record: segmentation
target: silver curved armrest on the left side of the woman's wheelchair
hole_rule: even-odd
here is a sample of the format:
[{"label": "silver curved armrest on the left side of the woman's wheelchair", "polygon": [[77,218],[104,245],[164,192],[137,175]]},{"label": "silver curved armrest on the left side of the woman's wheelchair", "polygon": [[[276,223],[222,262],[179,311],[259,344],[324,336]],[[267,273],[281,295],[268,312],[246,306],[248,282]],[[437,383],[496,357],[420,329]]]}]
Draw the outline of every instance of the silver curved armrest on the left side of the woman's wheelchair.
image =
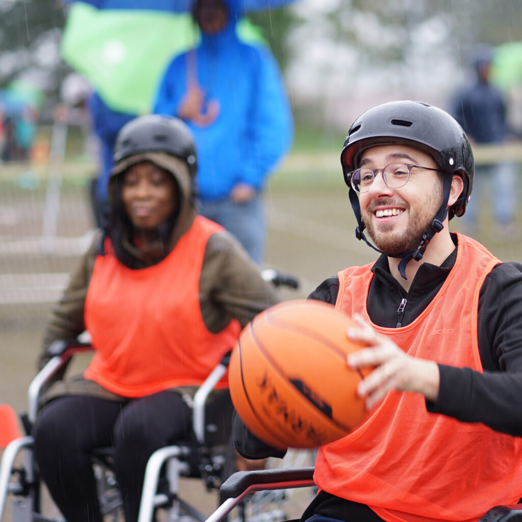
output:
[{"label": "silver curved armrest on the left side of the woman's wheelchair", "polygon": [[81,342],[77,339],[68,341],[54,341],[48,348],[49,355],[52,358],[32,379],[28,392],[28,419],[30,423],[34,423],[38,412],[38,401],[42,388],[48,384],[52,377],[60,371],[67,361],[73,357],[75,353],[91,351],[93,348],[90,343]]}]

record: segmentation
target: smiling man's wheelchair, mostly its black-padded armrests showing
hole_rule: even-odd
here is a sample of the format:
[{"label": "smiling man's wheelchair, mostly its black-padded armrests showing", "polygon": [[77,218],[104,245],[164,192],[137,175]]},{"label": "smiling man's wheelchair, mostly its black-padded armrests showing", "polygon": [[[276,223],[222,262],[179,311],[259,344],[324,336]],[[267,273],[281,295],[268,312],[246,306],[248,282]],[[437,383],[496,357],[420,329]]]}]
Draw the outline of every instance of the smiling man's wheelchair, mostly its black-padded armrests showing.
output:
[{"label": "smiling man's wheelchair, mostly its black-padded armrests showing", "polygon": [[[239,471],[233,473],[221,485],[219,490],[221,504],[207,518],[206,522],[221,522],[225,520],[232,509],[253,492],[311,487],[314,485],[313,474],[313,467]],[[288,522],[298,521],[290,520]],[[492,507],[478,522],[522,522],[522,503]]]}]

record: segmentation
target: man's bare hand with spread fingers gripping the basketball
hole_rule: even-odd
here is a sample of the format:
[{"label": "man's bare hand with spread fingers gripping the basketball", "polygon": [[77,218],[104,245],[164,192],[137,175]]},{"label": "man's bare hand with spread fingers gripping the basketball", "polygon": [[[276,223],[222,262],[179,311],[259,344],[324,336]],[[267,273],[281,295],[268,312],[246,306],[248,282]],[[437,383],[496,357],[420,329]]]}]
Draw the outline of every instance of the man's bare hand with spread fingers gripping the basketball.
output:
[{"label": "man's bare hand with spread fingers gripping the basketball", "polygon": [[367,348],[348,355],[348,365],[375,366],[357,387],[361,397],[367,396],[367,409],[372,409],[391,389],[418,392],[428,400],[437,400],[440,374],[435,362],[410,357],[388,337],[377,334],[360,315],[355,314],[353,320],[358,326],[349,328],[348,337],[363,342]]}]

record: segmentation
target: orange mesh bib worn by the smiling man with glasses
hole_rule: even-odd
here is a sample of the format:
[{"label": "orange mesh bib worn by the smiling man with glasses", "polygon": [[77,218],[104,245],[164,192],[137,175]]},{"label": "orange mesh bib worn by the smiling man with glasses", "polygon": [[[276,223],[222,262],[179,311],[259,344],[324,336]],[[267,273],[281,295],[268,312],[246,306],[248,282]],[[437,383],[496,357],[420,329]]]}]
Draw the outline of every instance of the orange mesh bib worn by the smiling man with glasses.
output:
[{"label": "orange mesh bib worn by the smiling man with glasses", "polygon": [[[411,357],[482,372],[477,339],[479,292],[499,263],[458,235],[457,259],[441,290],[413,323],[372,324],[366,302],[372,265],[339,273],[336,308],[361,314]],[[348,436],[319,449],[319,488],[370,506],[388,522],[478,520],[522,494],[522,439],[426,411],[424,397],[393,390]]]}]

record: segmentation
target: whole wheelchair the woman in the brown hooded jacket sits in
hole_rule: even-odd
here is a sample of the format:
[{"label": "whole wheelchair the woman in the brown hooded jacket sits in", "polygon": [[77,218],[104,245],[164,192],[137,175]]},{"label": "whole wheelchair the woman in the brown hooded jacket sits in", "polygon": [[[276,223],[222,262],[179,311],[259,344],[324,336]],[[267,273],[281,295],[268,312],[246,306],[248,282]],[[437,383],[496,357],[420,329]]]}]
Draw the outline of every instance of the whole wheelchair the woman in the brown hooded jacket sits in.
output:
[{"label": "whole wheelchair the woman in the brown hooded jacket sits in", "polygon": [[[32,455],[30,435],[37,417],[42,390],[51,379],[61,374],[74,355],[91,351],[85,342],[56,341],[49,351],[52,358],[34,377],[29,386],[28,411],[22,415],[27,436],[10,442],[0,464],[0,519],[8,497],[11,499],[11,519],[16,522],[61,522],[61,516],[42,514],[42,483]],[[209,400],[214,386],[227,370],[229,355],[207,377],[193,398],[193,436],[191,440],[158,449],[147,463],[141,497],[139,522],[150,522],[156,509],[162,508],[168,520],[190,519],[203,522],[207,515],[180,497],[181,477],[203,480],[207,491],[216,491],[224,478],[233,471],[234,452],[230,430],[218,429],[222,419],[232,418],[232,402],[227,392]],[[210,405],[211,407],[207,407]],[[225,423],[227,424],[227,423]],[[93,473],[97,479],[98,496],[105,520],[123,519],[123,508],[114,473],[111,470],[111,448],[97,448],[91,455]],[[20,459],[20,457],[22,457]],[[217,495],[216,495],[217,496]]]}]

